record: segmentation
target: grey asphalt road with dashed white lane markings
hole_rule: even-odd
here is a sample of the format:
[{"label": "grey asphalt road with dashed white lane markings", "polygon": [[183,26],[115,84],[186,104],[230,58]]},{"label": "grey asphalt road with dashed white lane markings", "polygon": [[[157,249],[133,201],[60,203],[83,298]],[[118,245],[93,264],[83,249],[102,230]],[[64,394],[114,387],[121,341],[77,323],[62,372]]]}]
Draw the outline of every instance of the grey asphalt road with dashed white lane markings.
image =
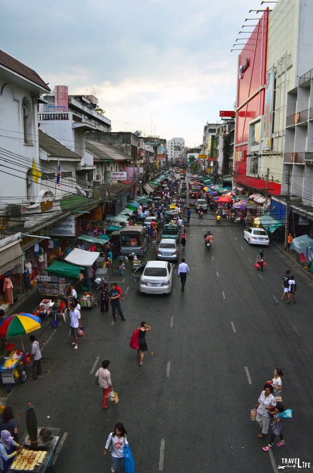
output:
[{"label": "grey asphalt road with dashed white lane markings", "polygon": [[[211,251],[204,247],[207,228],[215,237]],[[313,466],[312,285],[274,245],[264,249],[268,265],[258,272],[253,264],[259,248],[242,235],[239,225],[216,224],[210,211],[203,219],[193,212],[180,250],[190,268],[184,293],[175,269],[171,295],[140,295],[128,265],[115,278],[125,292],[125,323],[111,326],[111,311],[83,310],[87,335],[76,351],[67,324],[41,330],[44,375],[16,385],[7,405],[21,416],[21,432],[31,401],[40,425],[68,434],[54,471],[109,472],[102,452],[116,422],[125,425],[137,473],[270,473],[282,457]],[[297,304],[281,301],[288,268],[296,276]],[[33,298],[26,305],[36,303]],[[128,344],[142,320],[153,330],[139,367]],[[106,411],[91,374],[97,358],[97,366],[111,361],[120,398]],[[294,417],[284,421],[285,446],[275,444],[269,455],[250,408],[276,367],[284,372],[283,403]]]}]

